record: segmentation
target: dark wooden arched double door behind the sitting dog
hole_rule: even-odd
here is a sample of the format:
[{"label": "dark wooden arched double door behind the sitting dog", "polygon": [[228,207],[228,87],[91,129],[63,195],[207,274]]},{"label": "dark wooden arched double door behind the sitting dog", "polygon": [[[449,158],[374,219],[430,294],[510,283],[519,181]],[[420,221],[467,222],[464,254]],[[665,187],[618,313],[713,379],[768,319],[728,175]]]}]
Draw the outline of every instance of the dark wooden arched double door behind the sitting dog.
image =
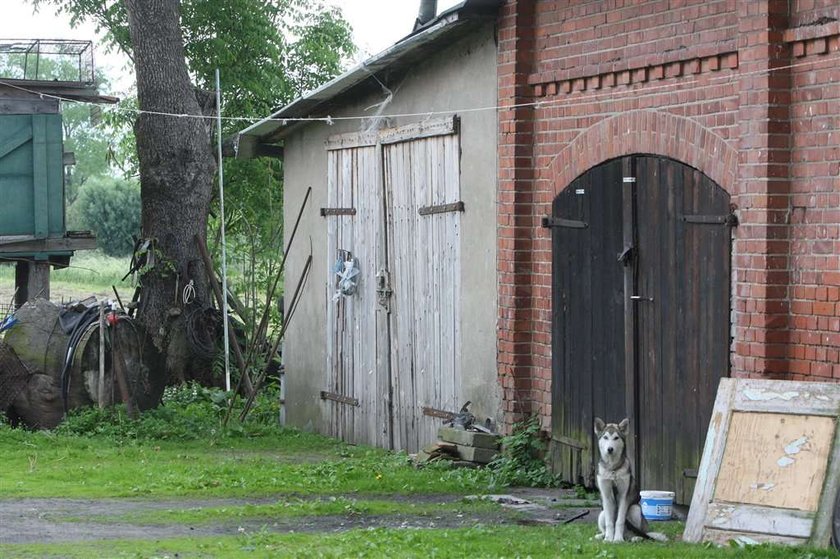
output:
[{"label": "dark wooden arched double door behind the sitting dog", "polygon": [[642,488],[690,502],[729,373],[734,224],[722,188],[658,156],[603,163],[555,199],[552,454],[569,481],[594,481],[594,418],[628,417]]}]

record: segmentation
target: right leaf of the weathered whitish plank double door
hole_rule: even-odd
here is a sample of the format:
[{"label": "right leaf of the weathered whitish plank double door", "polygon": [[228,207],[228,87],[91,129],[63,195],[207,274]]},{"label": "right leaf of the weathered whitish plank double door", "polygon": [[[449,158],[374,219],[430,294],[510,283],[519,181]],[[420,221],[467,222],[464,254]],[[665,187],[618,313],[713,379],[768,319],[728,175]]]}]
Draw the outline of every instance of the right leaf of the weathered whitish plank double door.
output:
[{"label": "right leaf of the weathered whitish plank double door", "polygon": [[[437,440],[460,395],[460,180],[453,121],[383,138],[394,447]],[[409,139],[414,137],[416,139]],[[417,138],[417,136],[423,136]]]}]

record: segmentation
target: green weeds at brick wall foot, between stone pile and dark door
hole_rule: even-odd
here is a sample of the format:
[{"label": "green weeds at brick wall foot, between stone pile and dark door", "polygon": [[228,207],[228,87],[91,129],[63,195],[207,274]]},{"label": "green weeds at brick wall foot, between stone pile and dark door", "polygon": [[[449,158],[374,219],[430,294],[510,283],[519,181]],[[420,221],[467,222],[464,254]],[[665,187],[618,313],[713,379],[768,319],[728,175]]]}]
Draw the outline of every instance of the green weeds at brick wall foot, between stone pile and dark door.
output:
[{"label": "green weeds at brick wall foot, between stone pile and dark door", "polygon": [[559,476],[553,474],[543,460],[546,445],[540,437],[540,421],[531,416],[513,427],[513,433],[502,438],[502,452],[489,464],[491,485],[496,487],[556,487]]}]

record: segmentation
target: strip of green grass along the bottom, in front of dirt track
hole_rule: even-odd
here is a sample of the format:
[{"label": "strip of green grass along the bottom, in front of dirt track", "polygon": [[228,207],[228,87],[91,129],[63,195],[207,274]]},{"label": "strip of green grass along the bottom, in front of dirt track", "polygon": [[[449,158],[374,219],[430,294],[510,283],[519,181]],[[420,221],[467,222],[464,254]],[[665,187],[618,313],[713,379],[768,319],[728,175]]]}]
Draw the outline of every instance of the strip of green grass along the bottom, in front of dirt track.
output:
[{"label": "strip of green grass along the bottom, in front of dirt track", "polygon": [[605,544],[590,539],[591,525],[562,527],[475,526],[471,528],[362,529],[331,534],[272,534],[157,541],[106,541],[54,545],[0,545],[0,555],[20,559],[66,558],[274,558],[274,557],[581,557],[604,559],[822,559],[830,551],[780,546],[717,548],[670,543]]}]

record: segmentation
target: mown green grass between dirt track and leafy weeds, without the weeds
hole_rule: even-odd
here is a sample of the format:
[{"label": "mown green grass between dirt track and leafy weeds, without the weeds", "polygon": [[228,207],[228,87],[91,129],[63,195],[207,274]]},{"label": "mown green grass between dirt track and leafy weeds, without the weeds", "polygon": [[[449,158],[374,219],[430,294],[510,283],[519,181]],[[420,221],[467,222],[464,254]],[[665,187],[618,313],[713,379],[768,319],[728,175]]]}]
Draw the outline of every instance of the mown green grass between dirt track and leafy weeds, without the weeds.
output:
[{"label": "mown green grass between dirt track and leafy weeds, without the weeds", "polygon": [[0,430],[0,497],[242,497],[296,493],[458,493],[486,487],[468,470],[417,470],[406,455],[295,430],[212,441],[92,440]]}]

